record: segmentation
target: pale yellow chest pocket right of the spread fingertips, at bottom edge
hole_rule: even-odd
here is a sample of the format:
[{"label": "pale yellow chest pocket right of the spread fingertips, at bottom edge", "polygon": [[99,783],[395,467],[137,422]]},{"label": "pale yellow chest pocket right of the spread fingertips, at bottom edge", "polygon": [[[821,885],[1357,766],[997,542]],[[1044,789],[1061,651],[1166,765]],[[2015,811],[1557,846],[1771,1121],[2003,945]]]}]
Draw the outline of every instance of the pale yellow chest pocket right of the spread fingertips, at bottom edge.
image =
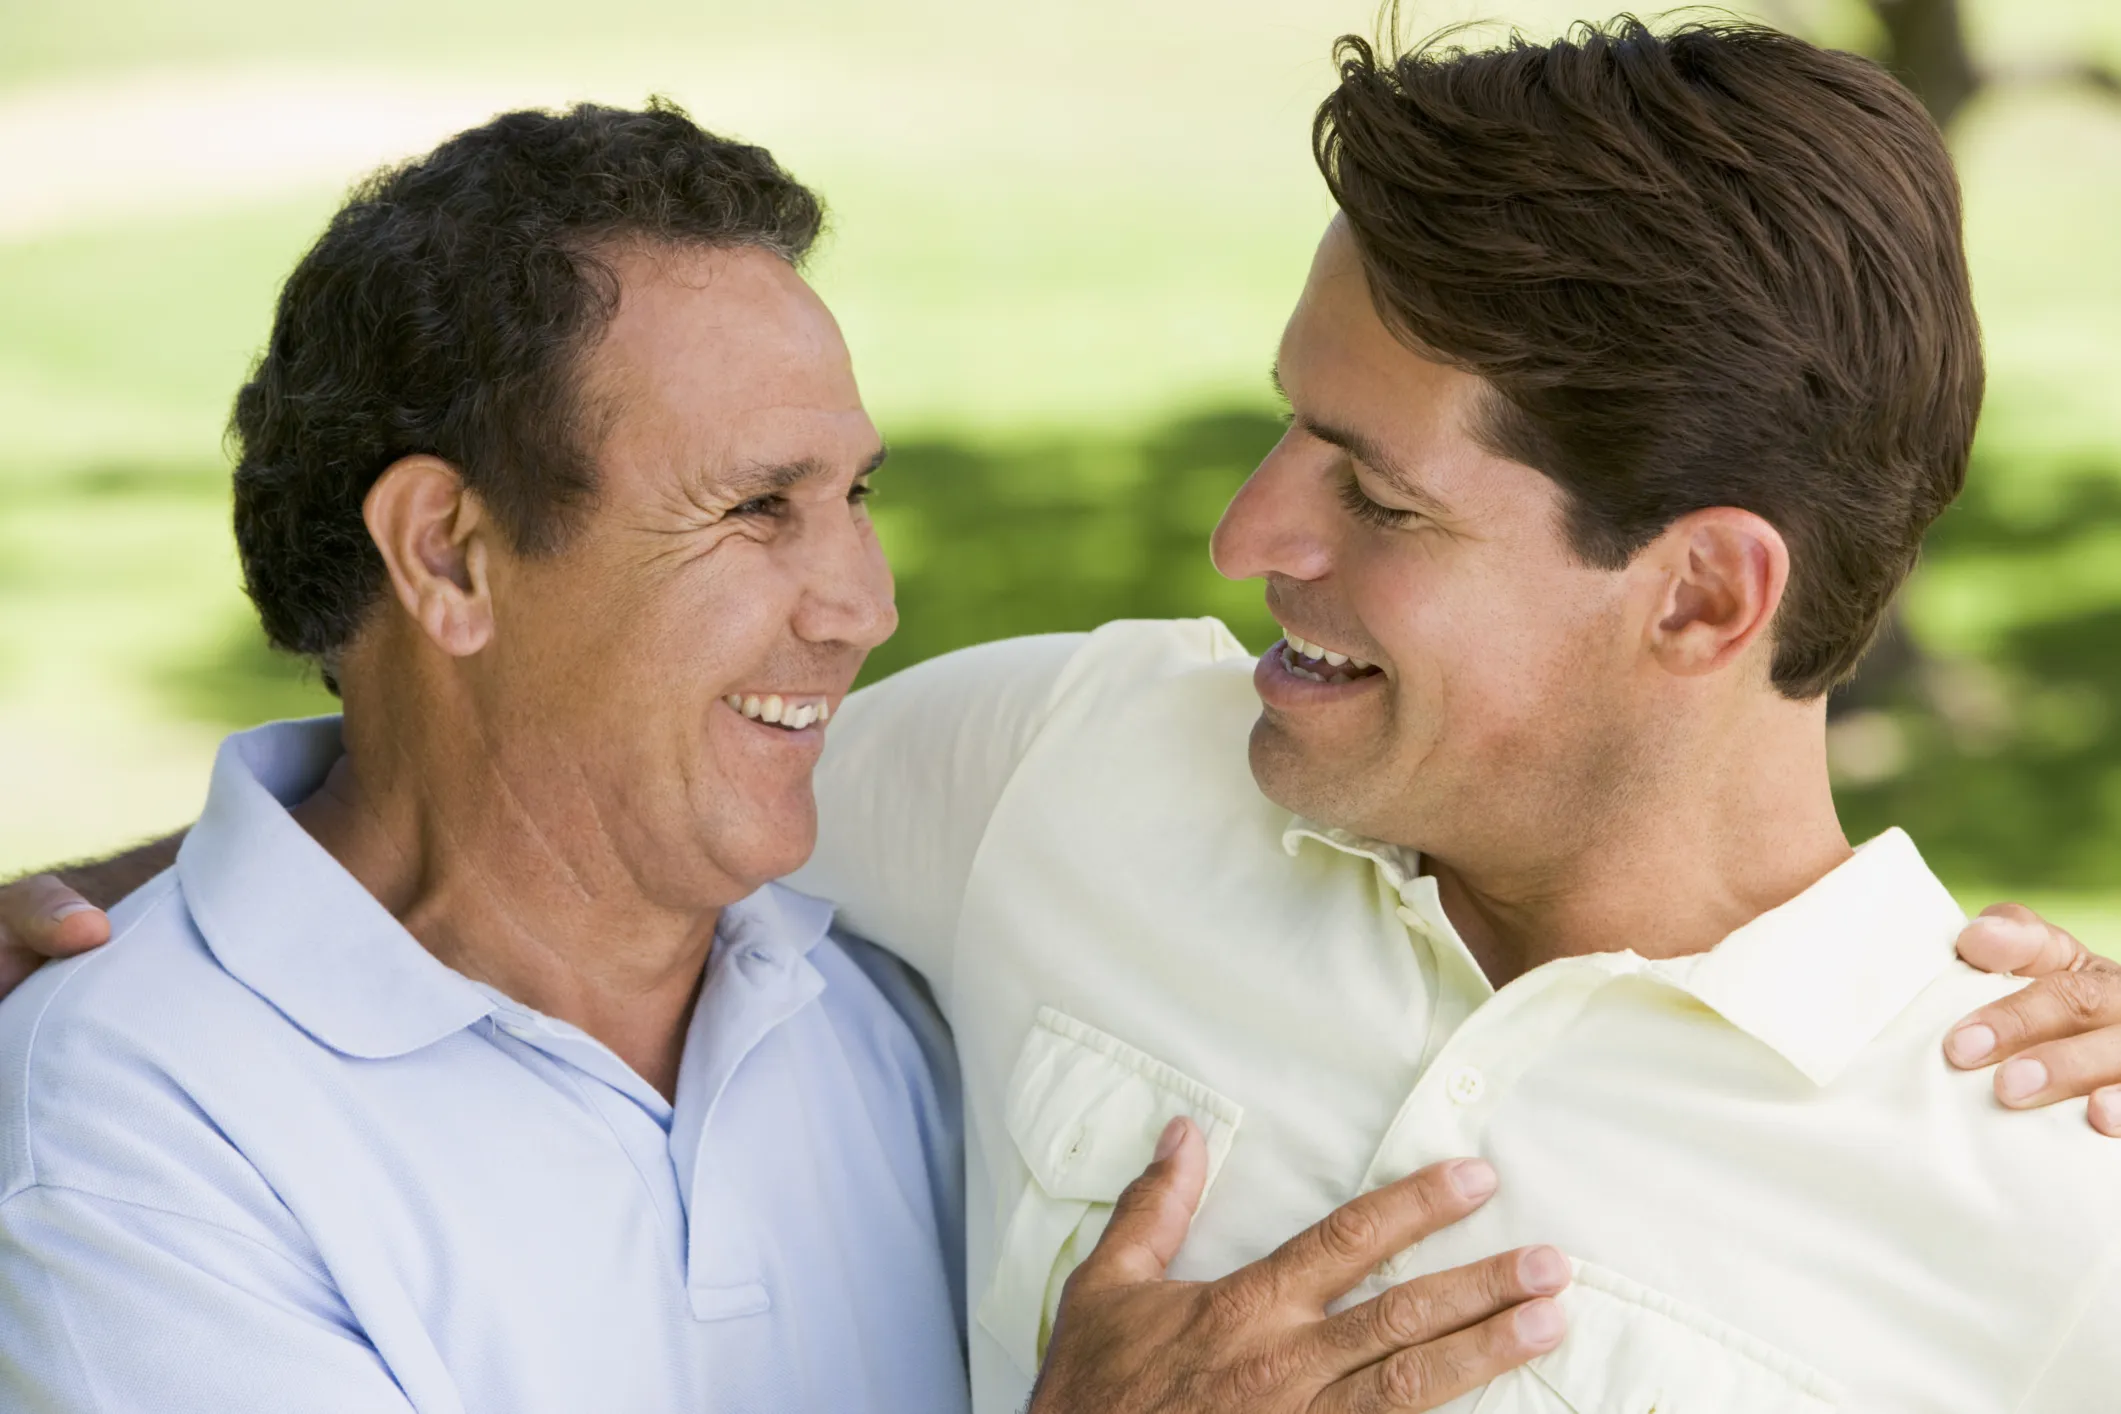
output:
[{"label": "pale yellow chest pocket right of the spread fingertips, at bottom edge", "polygon": [[1474,1414],[1839,1414],[1826,1376],[1707,1312],[1589,1261],[1561,1293],[1563,1342],[1512,1369]]}]

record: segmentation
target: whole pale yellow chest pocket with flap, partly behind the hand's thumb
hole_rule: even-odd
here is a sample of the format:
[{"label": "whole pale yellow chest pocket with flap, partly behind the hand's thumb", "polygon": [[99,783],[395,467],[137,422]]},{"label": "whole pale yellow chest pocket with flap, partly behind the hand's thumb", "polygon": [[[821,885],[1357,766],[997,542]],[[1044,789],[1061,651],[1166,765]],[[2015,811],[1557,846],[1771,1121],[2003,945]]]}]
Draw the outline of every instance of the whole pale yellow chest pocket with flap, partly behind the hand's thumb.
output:
[{"label": "whole pale yellow chest pocket with flap, partly behind the hand's thumb", "polygon": [[999,1257],[978,1319],[1033,1376],[1060,1285],[1097,1247],[1114,1200],[1147,1168],[1164,1126],[1186,1115],[1200,1128],[1213,1187],[1245,1111],[1052,1007],[1039,1007],[1007,1096],[1005,1126],[1022,1160],[1022,1185],[999,1215]]}]

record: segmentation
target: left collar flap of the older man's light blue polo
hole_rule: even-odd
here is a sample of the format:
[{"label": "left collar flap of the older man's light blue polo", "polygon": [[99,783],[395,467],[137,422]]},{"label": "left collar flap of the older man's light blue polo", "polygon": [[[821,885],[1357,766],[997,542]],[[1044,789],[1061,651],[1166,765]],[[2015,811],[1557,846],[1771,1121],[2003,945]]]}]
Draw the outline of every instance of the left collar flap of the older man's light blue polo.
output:
[{"label": "left collar flap of the older man's light blue polo", "polygon": [[494,1003],[288,814],[341,750],[337,717],[225,740],[176,873],[223,969],[331,1049],[384,1060],[471,1026]]}]

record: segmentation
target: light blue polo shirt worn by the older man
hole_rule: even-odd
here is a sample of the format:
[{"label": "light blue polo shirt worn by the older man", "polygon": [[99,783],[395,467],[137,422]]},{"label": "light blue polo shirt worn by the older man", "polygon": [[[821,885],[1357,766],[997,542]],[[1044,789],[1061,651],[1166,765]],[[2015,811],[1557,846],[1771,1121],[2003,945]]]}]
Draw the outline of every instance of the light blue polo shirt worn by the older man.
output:
[{"label": "light blue polo shirt worn by the older man", "polygon": [[965,1410],[957,1102],[899,973],[730,907],[677,1104],[443,967],[229,738],[117,939],[0,1005],[0,1410]]}]

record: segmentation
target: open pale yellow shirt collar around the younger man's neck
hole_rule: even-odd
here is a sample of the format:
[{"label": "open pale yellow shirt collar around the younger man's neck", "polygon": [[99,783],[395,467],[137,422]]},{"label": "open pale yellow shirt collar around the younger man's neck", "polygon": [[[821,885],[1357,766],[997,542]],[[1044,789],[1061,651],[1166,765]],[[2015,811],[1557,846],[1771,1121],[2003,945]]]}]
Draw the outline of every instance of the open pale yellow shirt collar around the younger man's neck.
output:
[{"label": "open pale yellow shirt collar around the younger man's neck", "polygon": [[[1489,990],[1436,899],[1436,880],[1421,873],[1419,852],[1296,816],[1281,835],[1283,850],[1294,856],[1304,839],[1377,865],[1402,899],[1402,918],[1444,950],[1457,971],[1478,979],[1474,986]],[[1930,873],[1915,842],[1890,829],[1707,952],[1561,958],[1521,982],[1578,967],[1665,982],[1780,1054],[1816,1085],[1830,1085],[1951,965],[1964,926],[1966,916]]]}]

